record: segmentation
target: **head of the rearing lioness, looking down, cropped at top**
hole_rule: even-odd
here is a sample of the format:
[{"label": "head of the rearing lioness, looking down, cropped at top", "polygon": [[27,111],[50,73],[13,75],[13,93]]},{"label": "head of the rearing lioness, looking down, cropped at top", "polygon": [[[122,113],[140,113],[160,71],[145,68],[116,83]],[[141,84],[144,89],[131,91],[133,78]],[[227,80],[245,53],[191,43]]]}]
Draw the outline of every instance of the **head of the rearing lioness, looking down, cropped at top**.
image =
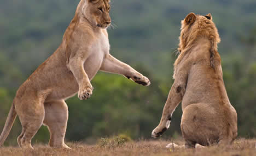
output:
[{"label": "head of the rearing lioness, looking down, cropped at top", "polygon": [[109,2],[110,0],[81,0],[77,14],[88,20],[93,27],[107,28],[111,23]]}]

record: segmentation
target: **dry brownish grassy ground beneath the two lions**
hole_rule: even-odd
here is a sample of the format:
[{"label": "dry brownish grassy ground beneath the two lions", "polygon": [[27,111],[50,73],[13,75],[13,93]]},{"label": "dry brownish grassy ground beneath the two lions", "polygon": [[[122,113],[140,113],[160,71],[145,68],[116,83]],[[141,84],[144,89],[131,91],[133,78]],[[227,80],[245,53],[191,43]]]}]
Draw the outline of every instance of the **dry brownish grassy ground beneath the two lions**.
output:
[{"label": "dry brownish grassy ground beneath the two lions", "polygon": [[[143,140],[129,141],[102,139],[96,145],[83,143],[67,143],[72,150],[49,148],[46,145],[34,145],[34,149],[21,149],[18,147],[1,147],[0,155],[256,155],[256,140],[238,139],[231,146],[210,146],[195,149],[167,149],[165,146],[171,141]],[[179,145],[182,141],[174,141]]]}]

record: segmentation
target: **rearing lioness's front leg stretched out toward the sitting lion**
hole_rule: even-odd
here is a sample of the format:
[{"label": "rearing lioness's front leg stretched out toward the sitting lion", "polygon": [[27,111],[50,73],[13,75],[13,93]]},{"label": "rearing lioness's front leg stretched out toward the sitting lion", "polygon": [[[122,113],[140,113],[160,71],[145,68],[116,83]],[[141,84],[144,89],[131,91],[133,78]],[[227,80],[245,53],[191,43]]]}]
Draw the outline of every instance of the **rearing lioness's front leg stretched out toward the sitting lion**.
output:
[{"label": "rearing lioness's front leg stretched out toward the sitting lion", "polygon": [[104,59],[100,70],[109,73],[122,74],[126,78],[132,79],[134,82],[144,86],[150,85],[150,81],[147,77],[137,72],[131,66],[114,58],[110,54],[108,54],[107,57]]}]

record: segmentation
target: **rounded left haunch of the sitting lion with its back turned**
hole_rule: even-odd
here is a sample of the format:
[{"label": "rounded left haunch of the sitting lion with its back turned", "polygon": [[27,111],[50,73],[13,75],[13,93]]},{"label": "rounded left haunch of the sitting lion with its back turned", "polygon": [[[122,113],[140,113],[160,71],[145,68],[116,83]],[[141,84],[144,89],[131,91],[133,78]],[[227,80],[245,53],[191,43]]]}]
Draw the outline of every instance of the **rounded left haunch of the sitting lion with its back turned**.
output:
[{"label": "rounded left haunch of the sitting lion with its back turned", "polygon": [[190,104],[183,110],[181,130],[185,148],[195,147],[196,143],[203,146],[218,142],[222,132],[222,120],[216,108],[208,104]]}]

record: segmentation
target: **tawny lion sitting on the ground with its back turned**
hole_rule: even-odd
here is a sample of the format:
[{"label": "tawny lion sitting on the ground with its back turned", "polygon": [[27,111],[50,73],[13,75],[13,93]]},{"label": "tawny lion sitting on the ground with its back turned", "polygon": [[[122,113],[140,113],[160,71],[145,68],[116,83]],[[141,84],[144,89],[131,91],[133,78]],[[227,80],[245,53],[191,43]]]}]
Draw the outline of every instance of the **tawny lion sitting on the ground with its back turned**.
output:
[{"label": "tawny lion sitting on the ground with its back turned", "polygon": [[211,14],[190,13],[181,23],[174,83],[152,136],[157,138],[169,128],[173,111],[182,102],[184,147],[231,143],[237,136],[237,114],[223,82],[218,30]]}]

